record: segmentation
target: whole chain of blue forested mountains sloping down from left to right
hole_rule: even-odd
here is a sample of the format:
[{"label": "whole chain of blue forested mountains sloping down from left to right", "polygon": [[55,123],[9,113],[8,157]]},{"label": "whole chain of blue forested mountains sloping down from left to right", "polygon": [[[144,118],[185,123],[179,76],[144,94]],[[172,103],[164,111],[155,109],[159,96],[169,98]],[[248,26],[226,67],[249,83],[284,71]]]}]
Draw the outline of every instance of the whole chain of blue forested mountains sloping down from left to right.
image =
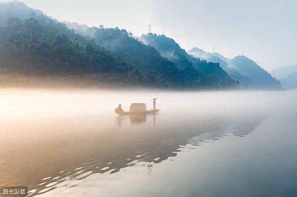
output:
[{"label": "whole chain of blue forested mountains sloping down from left to right", "polygon": [[[232,62],[218,53],[200,50],[205,61],[189,55],[164,35],[138,39],[118,28],[61,23],[18,1],[0,3],[0,16],[0,70],[39,75],[104,74],[107,81],[154,87],[227,88],[237,87],[235,80],[239,80],[278,88],[258,75],[264,73],[261,69],[250,75],[252,72],[241,66],[245,62],[255,68],[252,61]],[[218,62],[211,62],[213,57],[219,58]],[[230,62],[238,63],[237,69],[231,68]],[[251,79],[253,76],[263,80]]]}]

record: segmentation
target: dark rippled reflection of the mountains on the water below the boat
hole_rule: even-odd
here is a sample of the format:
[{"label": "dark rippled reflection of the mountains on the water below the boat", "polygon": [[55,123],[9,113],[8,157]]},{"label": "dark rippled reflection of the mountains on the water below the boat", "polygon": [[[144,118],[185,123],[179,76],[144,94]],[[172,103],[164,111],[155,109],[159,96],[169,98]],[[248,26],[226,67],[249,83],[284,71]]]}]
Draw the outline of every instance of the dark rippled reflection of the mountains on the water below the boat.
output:
[{"label": "dark rippled reflection of the mountains on the water below the boat", "polygon": [[[161,118],[165,117],[159,115],[158,120]],[[100,126],[98,122],[108,121],[98,118],[16,122],[22,125],[23,133],[31,133],[31,136],[20,134],[19,142],[0,140],[13,153],[5,152],[1,157],[5,162],[0,163],[0,185],[12,182],[28,185],[36,189],[37,194],[44,189],[54,189],[54,185],[66,177],[83,179],[94,173],[115,173],[138,161],[159,163],[175,157],[180,146],[187,143],[199,146],[200,142],[218,140],[227,133],[245,136],[265,118],[265,115],[192,117],[177,119],[171,124],[163,119],[154,126],[154,116],[147,116],[145,124],[131,126],[131,120],[126,118],[121,127],[117,124]],[[55,125],[54,130],[49,131],[53,128],[49,125]],[[34,132],[36,128],[38,132]],[[65,184],[65,187],[73,187],[71,183]]]}]

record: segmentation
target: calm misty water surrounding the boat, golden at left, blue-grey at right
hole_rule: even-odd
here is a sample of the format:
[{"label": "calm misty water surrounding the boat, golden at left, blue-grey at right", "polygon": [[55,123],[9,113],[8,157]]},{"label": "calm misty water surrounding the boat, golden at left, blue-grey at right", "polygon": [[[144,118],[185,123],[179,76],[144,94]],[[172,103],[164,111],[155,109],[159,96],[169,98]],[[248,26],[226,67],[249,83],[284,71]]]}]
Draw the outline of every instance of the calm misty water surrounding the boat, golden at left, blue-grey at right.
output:
[{"label": "calm misty water surrounding the boat, golden at left, blue-grey at right", "polygon": [[[157,98],[157,115],[117,117]],[[0,90],[0,186],[41,197],[295,197],[297,92]]]}]

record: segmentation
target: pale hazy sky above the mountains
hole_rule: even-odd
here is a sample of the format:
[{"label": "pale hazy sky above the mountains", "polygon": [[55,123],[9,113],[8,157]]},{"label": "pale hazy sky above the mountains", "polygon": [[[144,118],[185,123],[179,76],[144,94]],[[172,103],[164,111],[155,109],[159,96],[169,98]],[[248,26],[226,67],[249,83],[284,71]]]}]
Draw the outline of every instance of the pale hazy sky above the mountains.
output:
[{"label": "pale hazy sky above the mountains", "polygon": [[[0,0],[7,1],[7,0]],[[23,0],[59,20],[148,31],[271,71],[297,63],[297,0]]]}]

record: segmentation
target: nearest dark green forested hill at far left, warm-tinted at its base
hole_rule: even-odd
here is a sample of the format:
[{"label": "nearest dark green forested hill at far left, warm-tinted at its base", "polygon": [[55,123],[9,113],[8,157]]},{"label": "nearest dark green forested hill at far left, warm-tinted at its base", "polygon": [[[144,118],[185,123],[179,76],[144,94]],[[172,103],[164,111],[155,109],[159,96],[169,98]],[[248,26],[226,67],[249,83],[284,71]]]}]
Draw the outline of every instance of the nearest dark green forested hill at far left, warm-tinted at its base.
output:
[{"label": "nearest dark green forested hill at far left, warm-tinted at its base", "polygon": [[127,74],[131,70],[92,40],[44,18],[13,18],[0,28],[0,55],[1,68],[25,74]]}]

